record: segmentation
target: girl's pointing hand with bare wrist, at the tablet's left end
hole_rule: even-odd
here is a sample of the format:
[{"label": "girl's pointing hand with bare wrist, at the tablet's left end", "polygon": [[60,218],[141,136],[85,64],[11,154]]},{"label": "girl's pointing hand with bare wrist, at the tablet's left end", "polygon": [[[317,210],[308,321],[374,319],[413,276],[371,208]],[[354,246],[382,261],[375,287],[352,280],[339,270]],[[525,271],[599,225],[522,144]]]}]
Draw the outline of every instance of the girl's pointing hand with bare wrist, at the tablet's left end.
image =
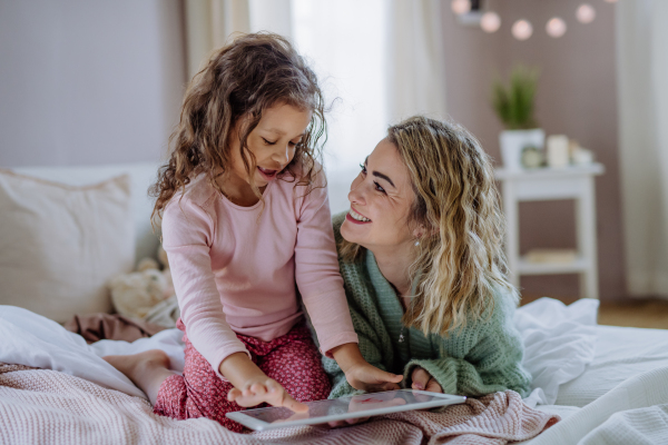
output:
[{"label": "girl's pointing hand with bare wrist, at the tablet's left end", "polygon": [[239,406],[256,406],[268,403],[273,406],[284,406],[295,413],[305,413],[308,406],[295,400],[278,382],[266,376],[244,353],[236,353],[220,364],[223,374],[234,388],[227,393],[229,402]]}]

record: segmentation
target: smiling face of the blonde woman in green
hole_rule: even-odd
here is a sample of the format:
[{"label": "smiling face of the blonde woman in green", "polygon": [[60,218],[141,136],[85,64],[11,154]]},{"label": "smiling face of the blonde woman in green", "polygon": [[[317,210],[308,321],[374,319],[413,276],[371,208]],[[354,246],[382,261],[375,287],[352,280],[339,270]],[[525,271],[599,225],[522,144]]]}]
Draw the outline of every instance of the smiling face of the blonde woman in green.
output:
[{"label": "smiling face of the blonde woman in green", "polygon": [[374,253],[413,244],[409,214],[414,199],[409,169],[394,144],[383,139],[351,185],[341,235]]}]

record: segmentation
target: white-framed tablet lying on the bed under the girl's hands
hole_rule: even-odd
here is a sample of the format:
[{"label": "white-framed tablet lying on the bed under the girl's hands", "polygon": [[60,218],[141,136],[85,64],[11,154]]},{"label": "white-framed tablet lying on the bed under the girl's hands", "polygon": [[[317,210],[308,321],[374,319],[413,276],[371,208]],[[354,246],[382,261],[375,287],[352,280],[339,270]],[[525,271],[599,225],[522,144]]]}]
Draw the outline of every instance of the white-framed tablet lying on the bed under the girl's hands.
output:
[{"label": "white-framed tablet lying on the bed under the girl's hands", "polygon": [[306,402],[306,413],[295,413],[284,407],[269,407],[227,413],[226,416],[255,431],[286,428],[288,426],[316,425],[348,418],[371,417],[402,411],[435,408],[461,404],[463,396],[426,390],[397,389],[367,393],[331,400]]}]

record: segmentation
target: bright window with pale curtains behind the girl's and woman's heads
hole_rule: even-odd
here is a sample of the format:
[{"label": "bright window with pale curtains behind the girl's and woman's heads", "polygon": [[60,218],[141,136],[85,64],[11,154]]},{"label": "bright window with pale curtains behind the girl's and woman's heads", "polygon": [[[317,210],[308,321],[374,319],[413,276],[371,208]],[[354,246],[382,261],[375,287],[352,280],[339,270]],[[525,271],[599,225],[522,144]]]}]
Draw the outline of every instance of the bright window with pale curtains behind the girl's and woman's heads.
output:
[{"label": "bright window with pale curtains behind the girl's and woman's heads", "polygon": [[390,123],[445,116],[441,22],[441,0],[186,0],[194,69],[235,31],[277,32],[310,59],[332,105],[324,160],[334,211],[347,208],[358,164]]}]

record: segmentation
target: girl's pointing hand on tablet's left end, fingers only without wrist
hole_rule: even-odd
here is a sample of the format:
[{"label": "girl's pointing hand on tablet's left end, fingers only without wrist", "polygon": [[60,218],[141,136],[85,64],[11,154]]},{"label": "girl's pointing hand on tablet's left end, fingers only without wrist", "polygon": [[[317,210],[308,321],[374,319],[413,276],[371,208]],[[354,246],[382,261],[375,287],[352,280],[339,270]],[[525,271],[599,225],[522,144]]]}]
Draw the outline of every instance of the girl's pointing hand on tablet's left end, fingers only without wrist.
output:
[{"label": "girl's pointing hand on tablet's left end, fingers only without wrist", "polygon": [[308,406],[295,400],[278,382],[267,376],[249,378],[240,388],[232,388],[227,393],[227,399],[244,407],[256,406],[266,402],[273,406],[284,406],[295,413],[308,411]]}]

